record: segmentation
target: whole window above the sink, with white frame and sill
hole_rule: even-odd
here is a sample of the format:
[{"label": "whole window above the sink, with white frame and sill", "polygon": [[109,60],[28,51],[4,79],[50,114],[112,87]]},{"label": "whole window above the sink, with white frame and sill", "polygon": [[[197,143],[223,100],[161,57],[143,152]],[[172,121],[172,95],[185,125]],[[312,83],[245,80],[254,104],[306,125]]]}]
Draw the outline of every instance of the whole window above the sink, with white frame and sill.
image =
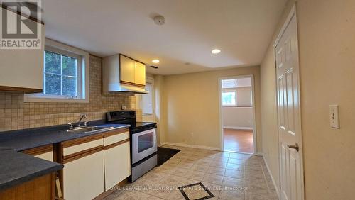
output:
[{"label": "whole window above the sink, with white frame and sill", "polygon": [[43,92],[25,101],[88,102],[87,52],[46,39],[43,54]]}]

